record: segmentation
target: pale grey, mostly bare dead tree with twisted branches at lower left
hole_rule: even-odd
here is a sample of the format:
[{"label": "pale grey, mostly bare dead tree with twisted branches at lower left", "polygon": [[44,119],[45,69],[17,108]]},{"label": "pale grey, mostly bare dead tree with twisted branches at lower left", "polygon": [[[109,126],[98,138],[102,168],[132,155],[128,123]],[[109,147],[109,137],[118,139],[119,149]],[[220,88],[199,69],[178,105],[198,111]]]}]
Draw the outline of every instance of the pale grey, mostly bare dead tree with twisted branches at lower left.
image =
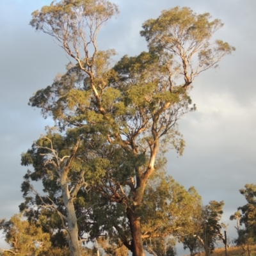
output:
[{"label": "pale grey, mostly bare dead tree with twisted branches at lower left", "polygon": [[[52,209],[52,211],[56,211],[56,213],[60,216],[62,227],[68,232],[70,252],[72,255],[77,256],[80,255],[80,244],[78,239],[77,215],[74,207],[74,200],[79,189],[86,188],[87,185],[87,183],[84,181],[84,171],[81,171],[75,180],[70,180],[70,172],[72,168],[74,168],[74,159],[79,147],[79,142],[80,141],[77,141],[76,145],[74,145],[74,148],[70,152],[71,154],[61,156],[56,148],[53,147],[51,138],[43,136],[41,140],[38,140],[37,143],[33,145],[31,154],[27,153],[22,156],[22,164],[34,164],[36,170],[38,170],[38,168],[42,168],[42,166],[38,166],[38,163],[35,166],[35,157],[42,156],[40,161],[42,161],[45,166],[45,170],[43,170],[43,172],[47,177],[51,177],[50,179],[53,180],[55,177],[55,182],[59,182],[61,199],[63,200],[66,214],[63,214],[58,210],[59,205],[56,205],[56,203],[54,203],[49,196],[43,198],[36,193],[35,189],[33,189],[29,183],[29,179],[31,178],[29,172],[24,177],[26,181],[24,181],[22,184],[22,190],[24,191],[24,196],[27,196],[29,191],[35,192],[36,200],[40,200],[40,207],[45,207]],[[34,159],[33,156],[31,156],[32,154],[34,154]],[[68,186],[69,183],[74,184],[74,186],[70,188],[70,186]],[[22,210],[22,205],[20,209]]]}]

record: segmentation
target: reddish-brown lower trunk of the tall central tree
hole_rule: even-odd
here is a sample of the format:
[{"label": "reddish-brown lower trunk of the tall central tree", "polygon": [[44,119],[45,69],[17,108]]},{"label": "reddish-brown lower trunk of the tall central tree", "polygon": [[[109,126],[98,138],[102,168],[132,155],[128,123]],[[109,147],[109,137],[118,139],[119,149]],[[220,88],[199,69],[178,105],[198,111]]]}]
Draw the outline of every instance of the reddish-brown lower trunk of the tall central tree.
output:
[{"label": "reddish-brown lower trunk of the tall central tree", "polygon": [[134,211],[135,209],[128,209],[127,211],[132,236],[132,256],[145,256],[141,236],[140,217],[137,216]]}]

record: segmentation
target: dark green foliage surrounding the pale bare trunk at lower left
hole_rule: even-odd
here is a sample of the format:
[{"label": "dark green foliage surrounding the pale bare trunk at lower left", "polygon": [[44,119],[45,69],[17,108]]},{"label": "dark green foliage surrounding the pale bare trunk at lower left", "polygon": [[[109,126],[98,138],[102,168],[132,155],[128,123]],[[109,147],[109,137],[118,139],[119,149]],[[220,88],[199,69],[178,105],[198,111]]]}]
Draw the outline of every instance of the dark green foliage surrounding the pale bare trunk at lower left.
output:
[{"label": "dark green foliage surrounding the pale bare trunk at lower left", "polygon": [[[84,131],[84,130],[83,130]],[[88,133],[90,134],[90,133]],[[60,244],[67,244],[65,236],[63,236],[63,227],[61,225],[60,216],[54,211],[54,209],[42,208],[42,200],[49,205],[56,205],[56,209],[61,212],[61,214],[67,214],[63,205],[63,198],[61,195],[60,188],[60,178],[58,177],[56,170],[54,169],[54,160],[49,159],[49,148],[55,148],[56,154],[58,154],[59,159],[65,159],[66,156],[72,154],[74,144],[76,140],[79,139],[79,132],[74,133],[72,130],[72,136],[78,135],[77,137],[70,137],[71,134],[67,132],[67,136],[61,136],[56,132],[49,132],[47,138],[42,136],[38,141],[36,141],[32,148],[28,150],[26,154],[22,155],[22,164],[33,165],[33,172],[28,171],[24,176],[25,180],[22,184],[22,191],[24,192],[25,202],[20,205],[20,211],[26,209],[26,216],[29,221],[35,221],[40,223],[44,228],[45,232],[54,233],[52,237],[52,244],[60,246]],[[89,136],[88,136],[89,137]],[[88,138],[87,137],[87,138]],[[93,138],[95,140],[93,140]],[[49,140],[51,139],[51,141]],[[96,147],[102,146],[99,142],[100,136],[94,136],[90,138],[90,141],[84,138],[81,141],[81,147],[77,150],[76,157],[70,166],[70,172],[68,173],[68,188],[76,186],[79,182],[79,175],[84,172],[84,179],[87,180],[88,185],[93,186],[100,177],[104,177],[106,170],[110,168],[111,163],[109,159],[104,159],[99,155],[93,155],[93,151],[88,150],[92,147],[93,150],[97,150]],[[90,143],[91,147],[85,147]],[[97,146],[98,145],[98,146]],[[103,150],[103,148],[102,148]],[[29,161],[28,161],[29,159]],[[83,159],[83,160],[82,160]],[[60,167],[65,168],[67,162],[60,162]],[[35,198],[31,196],[33,189],[29,184],[29,180],[42,180],[44,185],[44,192],[47,193],[45,196],[36,195]],[[89,187],[88,187],[89,188]],[[96,199],[97,198],[97,199]],[[86,188],[81,188],[81,191],[76,196],[74,200],[74,205],[76,207],[77,218],[81,217],[81,223],[83,221],[86,224],[81,225],[79,232],[81,236],[84,234],[84,229],[92,227],[90,222],[86,222],[86,219],[92,220],[92,205],[95,204],[95,200],[99,198],[92,193],[88,193]]]}]

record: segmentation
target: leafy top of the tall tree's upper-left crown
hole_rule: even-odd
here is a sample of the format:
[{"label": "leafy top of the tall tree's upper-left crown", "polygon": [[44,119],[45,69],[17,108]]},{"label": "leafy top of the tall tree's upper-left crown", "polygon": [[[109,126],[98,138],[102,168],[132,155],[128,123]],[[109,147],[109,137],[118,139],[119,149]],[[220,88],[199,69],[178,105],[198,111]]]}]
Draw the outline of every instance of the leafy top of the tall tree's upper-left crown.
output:
[{"label": "leafy top of the tall tree's upper-left crown", "polygon": [[30,25],[60,42],[79,45],[86,29],[89,29],[87,36],[90,43],[97,38],[90,31],[99,32],[100,27],[116,13],[117,6],[105,0],[61,0],[33,12]]}]

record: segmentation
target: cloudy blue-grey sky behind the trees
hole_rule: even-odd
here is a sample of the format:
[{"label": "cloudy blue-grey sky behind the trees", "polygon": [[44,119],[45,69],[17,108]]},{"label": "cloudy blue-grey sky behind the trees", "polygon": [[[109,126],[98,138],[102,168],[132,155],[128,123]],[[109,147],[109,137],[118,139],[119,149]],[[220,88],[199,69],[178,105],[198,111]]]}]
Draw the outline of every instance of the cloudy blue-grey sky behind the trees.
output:
[{"label": "cloudy blue-grey sky behind the trees", "polygon": [[[207,70],[193,83],[197,110],[184,116],[179,128],[186,141],[184,156],[170,151],[167,171],[180,184],[195,186],[204,204],[223,200],[223,221],[230,239],[236,237],[229,216],[246,204],[239,189],[256,183],[256,1],[254,0],[115,0],[120,14],[108,22],[99,38],[100,49],[115,49],[118,58],[147,50],[141,24],[161,10],[177,5],[196,13],[211,13],[225,26],[214,38],[227,41],[236,52],[220,68]],[[31,147],[45,125],[29,97],[51,85],[70,61],[52,38],[29,26],[31,13],[48,0],[0,1],[0,219],[19,212],[20,184],[26,168],[20,154]],[[0,242],[0,247],[1,247]]]}]

